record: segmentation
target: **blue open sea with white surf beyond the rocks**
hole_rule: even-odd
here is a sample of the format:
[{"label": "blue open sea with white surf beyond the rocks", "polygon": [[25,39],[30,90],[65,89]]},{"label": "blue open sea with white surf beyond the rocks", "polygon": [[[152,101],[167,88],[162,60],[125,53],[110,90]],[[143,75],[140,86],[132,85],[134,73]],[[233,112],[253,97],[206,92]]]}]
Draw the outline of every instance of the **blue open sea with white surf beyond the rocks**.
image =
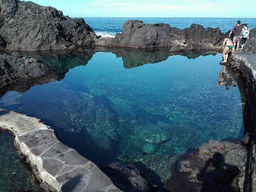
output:
[{"label": "blue open sea with white surf beyond the rocks", "polygon": [[237,20],[242,24],[247,23],[249,28],[256,28],[256,18],[101,18],[85,17],[85,22],[91,26],[97,35],[115,37],[115,33],[121,33],[123,23],[126,20],[142,20],[144,23],[167,23],[180,29],[196,23],[204,27],[220,27],[222,33],[232,29]]}]

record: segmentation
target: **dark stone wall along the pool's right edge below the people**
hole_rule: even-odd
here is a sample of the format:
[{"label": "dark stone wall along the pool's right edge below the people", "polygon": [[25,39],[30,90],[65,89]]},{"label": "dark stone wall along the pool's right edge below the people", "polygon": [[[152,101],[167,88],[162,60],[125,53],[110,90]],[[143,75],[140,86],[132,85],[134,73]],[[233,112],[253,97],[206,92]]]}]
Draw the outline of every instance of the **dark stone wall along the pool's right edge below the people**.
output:
[{"label": "dark stone wall along the pool's right edge below the people", "polygon": [[[249,102],[251,116],[254,127],[256,126],[256,70],[254,66],[254,58],[256,55],[241,53],[231,54],[229,63],[231,68],[239,70],[245,85],[245,93]],[[253,59],[248,60],[247,58]],[[252,62],[251,62],[252,61]],[[256,192],[256,129],[249,132],[249,143],[247,144],[247,163],[245,170],[245,182],[243,186],[244,192]]]}]

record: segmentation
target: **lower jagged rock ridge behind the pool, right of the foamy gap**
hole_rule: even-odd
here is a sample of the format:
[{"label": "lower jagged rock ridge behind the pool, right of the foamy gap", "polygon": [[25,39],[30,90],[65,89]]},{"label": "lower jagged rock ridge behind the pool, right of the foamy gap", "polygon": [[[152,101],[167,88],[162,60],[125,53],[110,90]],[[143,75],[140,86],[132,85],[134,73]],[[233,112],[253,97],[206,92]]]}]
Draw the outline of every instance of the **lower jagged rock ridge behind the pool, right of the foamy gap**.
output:
[{"label": "lower jagged rock ridge behind the pool, right of the foamy gap", "polygon": [[178,29],[168,24],[144,24],[139,20],[127,20],[122,33],[115,38],[98,39],[94,45],[130,48],[172,47],[171,51],[182,50],[219,50],[223,34],[219,27],[204,28],[192,24],[189,28]]}]

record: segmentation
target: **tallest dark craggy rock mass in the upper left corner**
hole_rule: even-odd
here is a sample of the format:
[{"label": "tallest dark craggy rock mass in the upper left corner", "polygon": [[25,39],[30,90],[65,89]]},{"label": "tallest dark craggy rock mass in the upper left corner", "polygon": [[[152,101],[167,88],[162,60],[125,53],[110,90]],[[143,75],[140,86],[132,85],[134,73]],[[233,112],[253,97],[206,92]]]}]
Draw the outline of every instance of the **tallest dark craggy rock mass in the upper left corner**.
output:
[{"label": "tallest dark craggy rock mass in the upper left corner", "polygon": [[0,11],[0,50],[65,50],[90,46],[98,38],[83,19],[71,19],[53,7],[0,0]]}]

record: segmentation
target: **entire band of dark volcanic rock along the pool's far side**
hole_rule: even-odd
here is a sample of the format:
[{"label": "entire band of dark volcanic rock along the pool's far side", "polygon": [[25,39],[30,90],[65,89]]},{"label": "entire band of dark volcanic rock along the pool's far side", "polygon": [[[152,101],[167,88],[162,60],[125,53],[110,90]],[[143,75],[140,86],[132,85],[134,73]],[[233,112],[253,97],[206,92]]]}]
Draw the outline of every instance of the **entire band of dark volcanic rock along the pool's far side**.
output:
[{"label": "entire band of dark volcanic rock along the pool's far side", "polygon": [[[53,7],[20,0],[0,0],[0,7],[0,51],[57,51],[84,46],[170,47],[172,52],[221,50],[222,40],[229,34],[222,33],[219,27],[198,24],[178,29],[164,23],[127,20],[122,33],[107,38],[97,36],[83,19],[69,18]],[[251,29],[251,41],[255,32]]]}]

